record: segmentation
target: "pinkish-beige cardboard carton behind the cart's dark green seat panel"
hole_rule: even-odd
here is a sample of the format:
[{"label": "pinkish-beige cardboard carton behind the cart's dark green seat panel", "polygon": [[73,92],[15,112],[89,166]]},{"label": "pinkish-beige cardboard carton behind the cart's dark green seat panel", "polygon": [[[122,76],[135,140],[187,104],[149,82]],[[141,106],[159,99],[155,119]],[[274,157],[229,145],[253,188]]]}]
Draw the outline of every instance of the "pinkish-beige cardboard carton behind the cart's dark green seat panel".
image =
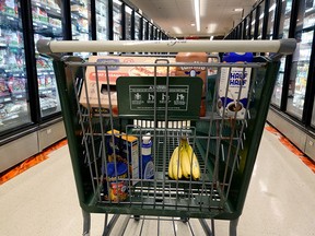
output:
[{"label": "pinkish-beige cardboard carton behind the cart's dark green seat panel", "polygon": [[[119,76],[154,76],[155,67],[153,67],[153,63],[156,59],[155,57],[91,56],[89,62],[97,63],[97,66],[86,67],[86,83],[83,83],[82,86],[80,104],[84,107],[90,105],[95,114],[100,113],[100,107],[102,114],[109,114],[112,105],[113,114],[117,115],[116,80]],[[170,63],[175,62],[174,58],[167,58],[167,60]],[[130,66],[132,63],[136,66]],[[148,63],[150,66],[145,66]],[[168,75],[175,75],[175,70],[174,67],[170,67]],[[156,75],[166,76],[167,67],[156,66]]]}]

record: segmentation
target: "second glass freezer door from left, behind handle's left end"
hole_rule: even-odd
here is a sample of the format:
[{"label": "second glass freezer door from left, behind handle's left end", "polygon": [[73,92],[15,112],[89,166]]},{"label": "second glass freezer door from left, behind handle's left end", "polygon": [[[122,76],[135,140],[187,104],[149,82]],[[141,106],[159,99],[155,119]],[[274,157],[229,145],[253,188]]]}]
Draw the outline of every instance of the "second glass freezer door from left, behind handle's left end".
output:
[{"label": "second glass freezer door from left, behind handle's left end", "polygon": [[[35,45],[38,39],[62,39],[61,5],[58,0],[32,0]],[[40,116],[47,117],[61,110],[52,60],[36,51],[36,70]]]}]

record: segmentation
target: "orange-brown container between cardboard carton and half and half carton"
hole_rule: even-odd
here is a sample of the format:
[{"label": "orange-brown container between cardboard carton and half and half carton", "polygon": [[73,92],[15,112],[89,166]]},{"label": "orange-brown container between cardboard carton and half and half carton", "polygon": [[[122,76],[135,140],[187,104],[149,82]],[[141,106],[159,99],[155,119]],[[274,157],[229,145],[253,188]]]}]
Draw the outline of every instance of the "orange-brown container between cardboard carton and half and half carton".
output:
[{"label": "orange-brown container between cardboard carton and half and half carton", "polygon": [[202,99],[201,99],[201,105],[200,105],[200,116],[201,117],[205,116],[206,115],[205,85],[206,85],[206,80],[207,80],[207,68],[200,67],[198,66],[198,63],[208,62],[208,55],[206,52],[178,52],[176,55],[176,62],[189,63],[189,66],[187,67],[177,67],[176,75],[199,76],[202,79],[203,87],[202,87]]}]

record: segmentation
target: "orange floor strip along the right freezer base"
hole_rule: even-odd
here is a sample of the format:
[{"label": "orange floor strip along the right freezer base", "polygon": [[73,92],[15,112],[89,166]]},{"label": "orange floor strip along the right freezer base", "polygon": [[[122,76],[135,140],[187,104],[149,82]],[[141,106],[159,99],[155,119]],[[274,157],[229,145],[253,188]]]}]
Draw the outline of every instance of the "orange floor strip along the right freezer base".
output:
[{"label": "orange floor strip along the right freezer base", "polygon": [[284,135],[282,135],[277,129],[273,127],[265,127],[269,132],[279,135],[279,141],[285,145],[292,153],[299,156],[299,158],[313,172],[315,173],[315,162],[306,156],[301,150],[299,150],[290,140],[288,140]]}]

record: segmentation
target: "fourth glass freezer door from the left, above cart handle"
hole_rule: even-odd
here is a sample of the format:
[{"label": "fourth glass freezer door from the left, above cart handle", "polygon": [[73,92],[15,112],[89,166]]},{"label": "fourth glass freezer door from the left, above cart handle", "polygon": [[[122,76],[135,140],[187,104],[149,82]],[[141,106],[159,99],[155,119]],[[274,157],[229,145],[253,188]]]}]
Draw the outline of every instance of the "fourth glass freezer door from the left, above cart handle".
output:
[{"label": "fourth glass freezer door from the left, above cart handle", "polygon": [[96,14],[96,39],[108,40],[108,1],[97,0],[95,2],[95,14]]}]

